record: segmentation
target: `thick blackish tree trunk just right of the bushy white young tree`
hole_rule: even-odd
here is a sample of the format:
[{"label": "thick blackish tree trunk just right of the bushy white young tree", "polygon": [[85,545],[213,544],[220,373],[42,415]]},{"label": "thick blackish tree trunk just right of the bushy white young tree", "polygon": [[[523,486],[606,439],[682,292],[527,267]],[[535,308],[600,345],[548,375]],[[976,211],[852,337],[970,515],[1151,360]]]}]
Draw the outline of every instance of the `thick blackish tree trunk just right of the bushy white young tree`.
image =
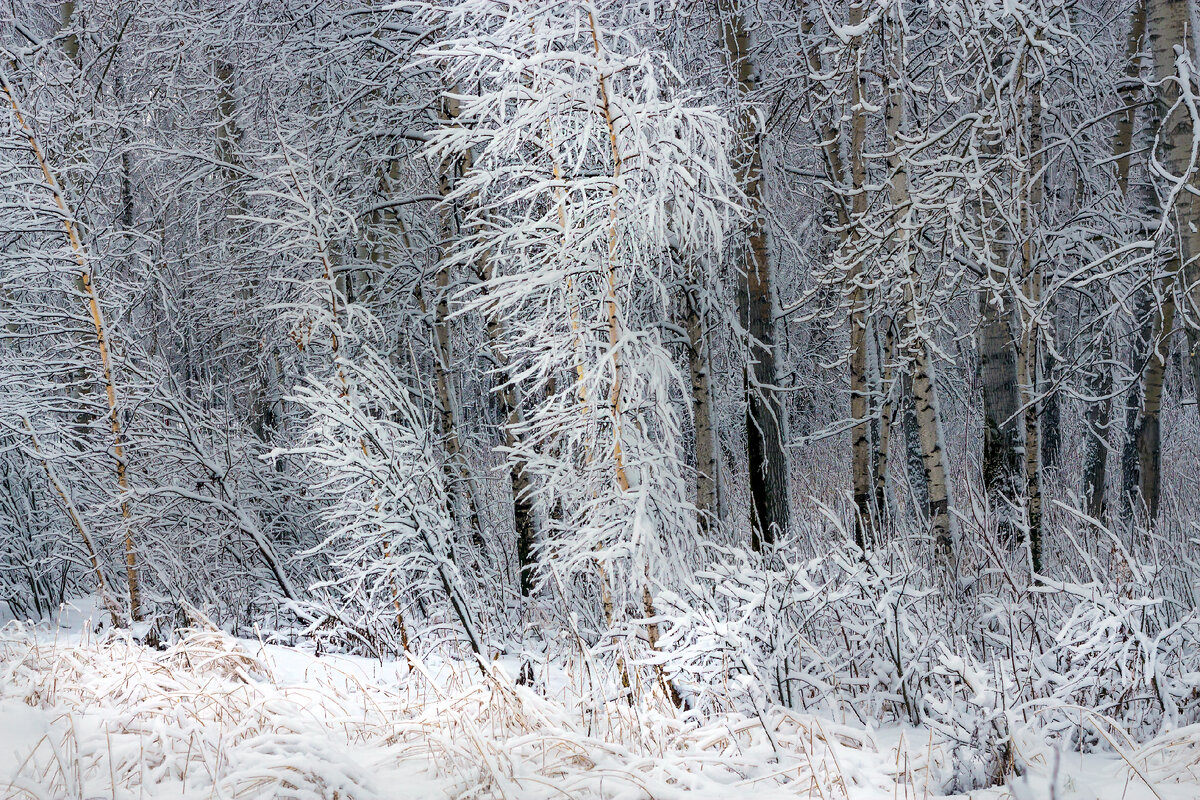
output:
[{"label": "thick blackish tree trunk just right of the bushy white young tree", "polygon": [[739,315],[750,338],[746,365],[746,456],[750,481],[754,549],[770,546],[788,529],[787,457],[784,451],[784,409],[775,392],[774,301],[762,198],[762,131],[758,115],[746,103],[758,74],[750,53],[745,20],[733,0],[718,2],[730,70],[743,101],[737,173],[749,207],[745,265],[739,270]]}]

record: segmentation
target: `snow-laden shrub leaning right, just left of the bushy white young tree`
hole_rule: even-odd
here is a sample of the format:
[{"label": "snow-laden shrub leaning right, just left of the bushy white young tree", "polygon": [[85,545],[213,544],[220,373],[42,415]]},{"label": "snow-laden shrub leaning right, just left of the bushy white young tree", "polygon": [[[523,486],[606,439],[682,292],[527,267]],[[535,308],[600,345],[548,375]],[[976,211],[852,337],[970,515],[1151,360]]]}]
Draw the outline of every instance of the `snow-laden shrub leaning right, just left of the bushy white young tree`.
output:
[{"label": "snow-laden shrub leaning right, just left of the bushy white young tree", "polygon": [[[402,652],[415,632],[464,636],[482,652],[476,609],[462,593],[445,475],[428,416],[389,365],[364,347],[337,378],[298,387],[308,431],[288,451],[305,459],[307,491],[328,535],[308,555],[329,561],[313,589],[329,596],[335,631],[378,655]],[[420,625],[413,625],[419,620]],[[439,638],[445,637],[443,632]],[[386,645],[380,648],[380,643]]]}]

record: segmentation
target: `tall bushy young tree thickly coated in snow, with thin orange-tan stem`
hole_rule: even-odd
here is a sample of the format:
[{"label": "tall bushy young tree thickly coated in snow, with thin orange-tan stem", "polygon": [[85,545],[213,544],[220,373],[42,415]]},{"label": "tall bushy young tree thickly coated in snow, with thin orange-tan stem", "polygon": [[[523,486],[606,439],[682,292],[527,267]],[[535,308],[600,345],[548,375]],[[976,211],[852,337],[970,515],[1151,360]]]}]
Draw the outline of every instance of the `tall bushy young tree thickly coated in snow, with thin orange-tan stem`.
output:
[{"label": "tall bushy young tree thickly coated in snow, with thin orange-tan stem", "polygon": [[685,383],[654,320],[672,246],[702,254],[722,243],[726,128],[601,10],[448,11],[457,37],[428,58],[478,88],[455,97],[457,125],[437,132],[432,152],[474,154],[450,194],[472,200],[458,258],[488,259],[473,307],[509,320],[499,349],[529,407],[506,455],[548,523],[542,577],[594,570],[605,625],[637,603],[653,650],[653,583],[696,524],[673,397]]}]

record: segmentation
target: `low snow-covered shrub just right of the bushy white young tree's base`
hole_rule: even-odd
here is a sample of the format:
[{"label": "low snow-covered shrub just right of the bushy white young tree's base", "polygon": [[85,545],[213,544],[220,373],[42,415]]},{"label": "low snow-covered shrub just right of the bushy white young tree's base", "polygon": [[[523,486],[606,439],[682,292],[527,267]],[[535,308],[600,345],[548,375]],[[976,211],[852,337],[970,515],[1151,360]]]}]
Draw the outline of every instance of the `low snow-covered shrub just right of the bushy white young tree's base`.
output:
[{"label": "low snow-covered shrub just right of the bushy white young tree's base", "polygon": [[936,590],[888,567],[886,552],[864,558],[848,542],[823,558],[786,552],[704,548],[708,566],[688,594],[664,594],[670,669],[720,703],[737,704],[727,685],[737,678],[745,698],[919,721],[937,666]]}]

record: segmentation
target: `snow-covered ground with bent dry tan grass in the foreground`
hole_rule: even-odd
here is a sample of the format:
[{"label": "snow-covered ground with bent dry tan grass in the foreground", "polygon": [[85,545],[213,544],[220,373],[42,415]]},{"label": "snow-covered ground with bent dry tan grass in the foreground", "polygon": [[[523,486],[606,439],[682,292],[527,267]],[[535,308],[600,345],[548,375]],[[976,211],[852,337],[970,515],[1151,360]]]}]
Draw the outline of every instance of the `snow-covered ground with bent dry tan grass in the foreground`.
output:
[{"label": "snow-covered ground with bent dry tan grass in the foreground", "polygon": [[[84,621],[0,631],[5,798],[917,800],[938,796],[928,777],[946,769],[918,728],[784,709],[697,723],[586,702],[570,674],[542,697],[499,666],[484,680],[217,631],[160,651],[97,638]],[[1027,774],[970,796],[1200,796],[1195,729],[1108,754],[1018,747]]]}]

